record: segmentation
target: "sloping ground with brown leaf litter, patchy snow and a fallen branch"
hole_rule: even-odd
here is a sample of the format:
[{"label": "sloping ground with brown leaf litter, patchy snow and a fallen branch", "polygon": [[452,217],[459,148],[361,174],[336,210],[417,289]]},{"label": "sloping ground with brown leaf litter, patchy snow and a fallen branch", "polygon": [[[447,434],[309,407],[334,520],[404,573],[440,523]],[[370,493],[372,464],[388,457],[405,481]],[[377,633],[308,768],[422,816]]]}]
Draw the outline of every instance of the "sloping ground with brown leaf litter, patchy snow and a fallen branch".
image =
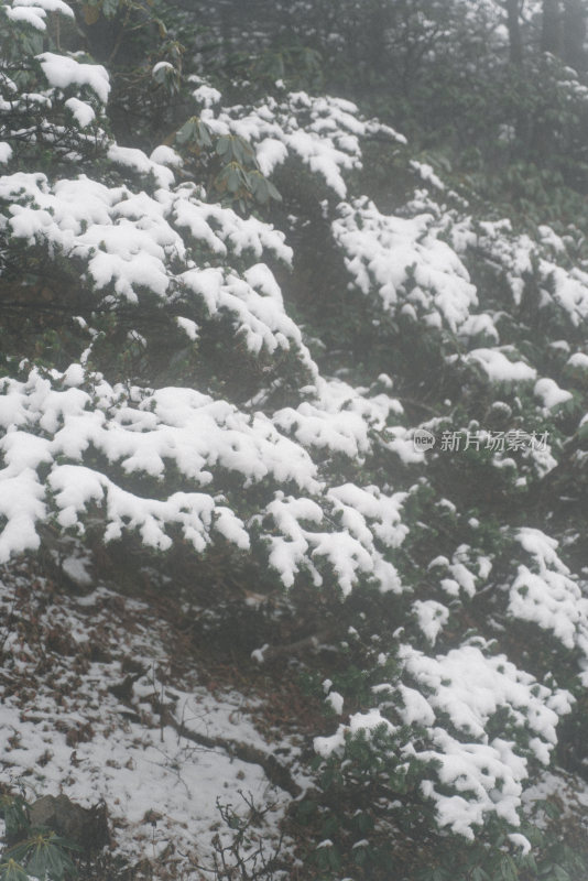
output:
[{"label": "sloping ground with brown leaf litter, patchy snow and a fallen branch", "polygon": [[284,818],[308,784],[304,717],[283,713],[302,701],[295,682],[275,695],[251,660],[249,676],[206,663],[206,628],[186,632],[156,591],[66,590],[24,563],[0,590],[1,786],[106,805],[92,878],[214,878],[235,817],[241,858],[295,866]]}]

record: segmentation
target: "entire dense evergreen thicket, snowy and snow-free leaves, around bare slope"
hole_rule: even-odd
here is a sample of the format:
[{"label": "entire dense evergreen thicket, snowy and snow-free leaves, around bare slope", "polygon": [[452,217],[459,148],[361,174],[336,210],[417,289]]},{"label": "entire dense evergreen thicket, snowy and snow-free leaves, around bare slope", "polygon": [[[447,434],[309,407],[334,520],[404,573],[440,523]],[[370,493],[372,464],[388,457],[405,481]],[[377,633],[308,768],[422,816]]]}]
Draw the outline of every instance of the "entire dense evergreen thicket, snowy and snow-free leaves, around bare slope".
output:
[{"label": "entire dense evergreen thicket, snowy and snow-free leaves, around bare slope", "polygon": [[578,877],[524,791],[584,730],[586,93],[508,80],[491,3],[369,3],[363,45],[341,6],[253,57],[220,4],[206,58],[177,10],[0,6],[0,562],[50,531],[315,591],[316,877]]}]

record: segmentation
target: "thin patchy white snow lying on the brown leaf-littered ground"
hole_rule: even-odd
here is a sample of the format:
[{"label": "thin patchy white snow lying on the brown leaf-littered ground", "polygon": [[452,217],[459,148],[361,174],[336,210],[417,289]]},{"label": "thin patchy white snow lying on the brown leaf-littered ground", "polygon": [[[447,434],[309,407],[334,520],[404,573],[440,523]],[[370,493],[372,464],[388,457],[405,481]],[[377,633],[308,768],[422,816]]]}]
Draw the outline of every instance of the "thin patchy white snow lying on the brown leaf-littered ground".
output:
[{"label": "thin patchy white snow lying on the brown leaf-littered ground", "polygon": [[[23,576],[22,583],[25,580]],[[163,687],[157,671],[167,668],[173,653],[173,635],[161,618],[144,603],[122,599],[104,587],[88,598],[92,600],[90,616],[81,598],[78,602],[61,595],[58,602],[43,605],[33,592],[29,594],[32,609],[14,611],[13,589],[13,585],[0,583],[2,612],[8,614],[12,607],[12,614],[25,624],[21,635],[12,633],[6,646],[9,657],[0,687],[4,783],[18,785],[25,780],[30,801],[62,792],[84,807],[104,800],[117,856],[135,864],[153,859],[172,840],[184,855],[179,859],[186,871],[195,861],[211,863],[217,833],[224,841],[230,840],[230,829],[218,828],[216,802],[232,803],[244,817],[248,807],[237,796],[242,791],[261,808],[273,805],[263,826],[251,829],[271,851],[291,796],[275,788],[259,764],[242,761],[221,747],[192,742],[167,725],[162,727],[150,703]],[[39,666],[41,644],[30,640],[31,633],[37,632],[30,627],[33,609],[39,633],[63,633],[78,645],[99,646],[106,659],[88,660],[75,673],[70,656],[47,646],[52,676],[51,681],[36,676],[34,706],[20,692],[7,688],[7,682],[20,677],[24,682]],[[129,628],[121,616],[132,621]],[[130,705],[109,690],[124,679],[126,657],[146,671],[132,688]],[[272,754],[271,744],[253,721],[254,697],[244,699],[227,688],[211,695],[192,674],[185,682],[166,683],[164,692],[172,701],[172,715],[187,730]],[[128,718],[131,713],[134,720]],[[12,739],[15,730],[18,742]],[[297,753],[295,739],[282,735],[282,742]],[[153,815],[154,825],[150,820]]]}]

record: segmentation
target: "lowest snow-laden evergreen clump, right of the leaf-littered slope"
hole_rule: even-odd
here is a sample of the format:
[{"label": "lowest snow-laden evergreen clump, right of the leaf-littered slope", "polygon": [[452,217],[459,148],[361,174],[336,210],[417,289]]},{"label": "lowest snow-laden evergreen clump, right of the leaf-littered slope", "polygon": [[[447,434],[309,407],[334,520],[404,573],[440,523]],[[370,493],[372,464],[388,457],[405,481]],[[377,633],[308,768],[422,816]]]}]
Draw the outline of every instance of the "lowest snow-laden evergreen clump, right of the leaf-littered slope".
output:
[{"label": "lowest snow-laden evergreen clump, right of the leaf-littered slope", "polygon": [[[385,736],[382,775],[422,776],[421,792],[434,800],[442,828],[473,839],[488,814],[518,825],[526,755],[548,763],[570,696],[540,686],[504,655],[488,657],[473,645],[431,657],[401,644],[399,655],[410,685],[374,685],[382,696],[378,709],[355,714],[331,737],[317,738],[317,751],[344,757],[346,738],[361,735],[369,744]],[[503,725],[523,735],[524,746],[514,749],[512,741],[489,736],[499,711]]]}]

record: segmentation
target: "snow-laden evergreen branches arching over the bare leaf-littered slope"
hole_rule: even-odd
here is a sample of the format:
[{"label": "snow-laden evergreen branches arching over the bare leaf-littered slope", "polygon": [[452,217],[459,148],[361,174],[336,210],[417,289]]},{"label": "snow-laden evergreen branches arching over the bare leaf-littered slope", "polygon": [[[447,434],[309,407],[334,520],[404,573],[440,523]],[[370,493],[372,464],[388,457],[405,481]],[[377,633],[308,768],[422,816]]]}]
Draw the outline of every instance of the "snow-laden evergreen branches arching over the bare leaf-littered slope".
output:
[{"label": "snow-laden evergreen branches arching over the bare leaf-littered slope", "polygon": [[[344,618],[364,603],[345,646],[364,693],[339,671],[327,703],[349,717],[317,737],[318,755],[344,788],[346,775],[368,792],[388,781],[391,816],[402,794],[467,839],[516,827],[588,649],[559,536],[522,522],[542,480],[585,461],[569,445],[588,356],[558,337],[588,311],[571,233],[531,241],[475,220],[409,154],[414,195],[384,213],[352,192],[362,143],[403,139],[335,98],[215,109],[200,84],[174,148],[119,145],[106,69],[45,44],[48,13],[72,15],[55,0],[0,7],[13,42],[0,56],[1,292],[7,308],[46,302],[51,315],[6,333],[0,562],[36,551],[47,526],[57,543],[90,531],[189,546],[195,569],[213,550],[247,557]],[[207,193],[194,178],[214,144],[228,164]],[[311,191],[307,222],[327,230],[316,297],[323,273],[369,316],[357,379],[340,367],[353,334],[331,371],[285,303],[301,216],[275,210],[283,232],[241,198],[250,187],[266,206],[269,178],[288,170]],[[415,405],[425,379],[440,405]],[[513,566],[513,546],[526,562]],[[511,657],[512,622],[553,637],[569,666]]]}]

